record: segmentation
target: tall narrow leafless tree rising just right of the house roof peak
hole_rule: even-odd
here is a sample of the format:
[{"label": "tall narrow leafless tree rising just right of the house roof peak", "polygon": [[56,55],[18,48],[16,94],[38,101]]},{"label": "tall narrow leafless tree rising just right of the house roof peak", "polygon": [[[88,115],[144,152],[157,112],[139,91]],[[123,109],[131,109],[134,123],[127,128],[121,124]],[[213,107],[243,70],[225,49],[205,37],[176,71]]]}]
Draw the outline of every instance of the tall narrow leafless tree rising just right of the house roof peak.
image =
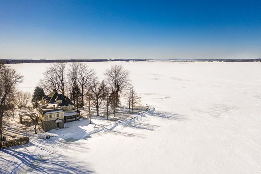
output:
[{"label": "tall narrow leafless tree rising just right of the house roof peak", "polygon": [[73,97],[73,90],[76,87],[78,81],[79,62],[73,62],[68,69],[67,73],[67,88],[70,92],[70,98],[75,104],[75,98]]}]

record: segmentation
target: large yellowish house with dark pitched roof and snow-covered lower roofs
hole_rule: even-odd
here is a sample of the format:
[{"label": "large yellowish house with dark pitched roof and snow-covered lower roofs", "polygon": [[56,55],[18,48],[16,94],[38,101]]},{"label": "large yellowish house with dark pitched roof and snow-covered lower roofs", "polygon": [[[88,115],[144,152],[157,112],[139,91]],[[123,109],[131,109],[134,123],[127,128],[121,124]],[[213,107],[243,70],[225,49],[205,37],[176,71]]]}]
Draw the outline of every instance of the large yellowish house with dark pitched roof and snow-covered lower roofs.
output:
[{"label": "large yellowish house with dark pitched roof and snow-covered lower roofs", "polygon": [[80,111],[73,106],[69,97],[58,94],[55,90],[42,97],[37,110],[39,125],[44,131],[64,128],[64,123],[80,118]]}]

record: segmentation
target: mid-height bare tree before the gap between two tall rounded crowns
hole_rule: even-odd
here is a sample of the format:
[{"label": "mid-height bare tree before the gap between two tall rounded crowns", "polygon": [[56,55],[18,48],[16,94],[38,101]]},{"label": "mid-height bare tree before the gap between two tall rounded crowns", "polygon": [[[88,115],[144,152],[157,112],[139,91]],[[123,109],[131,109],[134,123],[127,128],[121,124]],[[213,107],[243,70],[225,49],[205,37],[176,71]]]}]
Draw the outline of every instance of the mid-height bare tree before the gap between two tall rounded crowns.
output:
[{"label": "mid-height bare tree before the gap between two tall rounded crowns", "polygon": [[90,84],[90,92],[92,94],[92,100],[94,101],[94,106],[96,107],[97,116],[99,115],[99,107],[102,102],[102,87],[104,86],[102,81],[101,83],[97,78],[94,78]]}]

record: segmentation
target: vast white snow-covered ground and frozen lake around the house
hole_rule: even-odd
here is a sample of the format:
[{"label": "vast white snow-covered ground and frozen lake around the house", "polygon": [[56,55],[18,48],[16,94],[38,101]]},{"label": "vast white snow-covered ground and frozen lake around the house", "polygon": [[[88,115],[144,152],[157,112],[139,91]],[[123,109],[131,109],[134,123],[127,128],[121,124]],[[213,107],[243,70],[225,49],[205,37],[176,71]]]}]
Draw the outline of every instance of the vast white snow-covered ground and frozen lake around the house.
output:
[{"label": "vast white snow-covered ground and frozen lake around the house", "polygon": [[[260,63],[88,64],[103,78],[115,63],[150,110],[113,129],[89,134],[88,120],[75,121],[49,141],[4,149],[0,173],[261,172]],[[19,88],[32,91],[48,64],[11,66],[25,76]]]}]

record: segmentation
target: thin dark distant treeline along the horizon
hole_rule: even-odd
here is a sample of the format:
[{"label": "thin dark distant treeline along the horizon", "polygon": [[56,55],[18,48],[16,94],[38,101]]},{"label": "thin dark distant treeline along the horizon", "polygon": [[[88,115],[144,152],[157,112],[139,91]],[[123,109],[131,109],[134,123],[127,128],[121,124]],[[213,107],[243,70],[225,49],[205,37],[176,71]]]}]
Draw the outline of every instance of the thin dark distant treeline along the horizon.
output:
[{"label": "thin dark distant treeline along the horizon", "polygon": [[0,64],[55,63],[55,62],[108,62],[108,61],[178,61],[178,62],[261,62],[261,59],[0,59]]}]

